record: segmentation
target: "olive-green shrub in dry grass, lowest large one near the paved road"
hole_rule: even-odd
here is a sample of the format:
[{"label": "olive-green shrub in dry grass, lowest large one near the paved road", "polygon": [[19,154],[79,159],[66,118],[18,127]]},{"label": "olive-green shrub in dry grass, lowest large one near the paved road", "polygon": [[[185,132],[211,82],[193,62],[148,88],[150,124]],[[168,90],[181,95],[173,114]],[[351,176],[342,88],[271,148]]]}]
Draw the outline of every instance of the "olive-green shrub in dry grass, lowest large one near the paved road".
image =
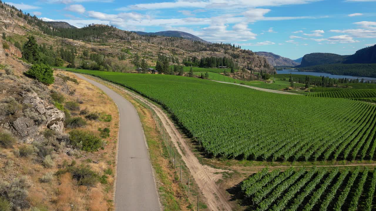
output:
[{"label": "olive-green shrub in dry grass, lowest large one near the paved road", "polygon": [[68,172],[77,180],[79,185],[94,186],[98,182],[97,174],[91,170],[90,166],[70,167]]}]

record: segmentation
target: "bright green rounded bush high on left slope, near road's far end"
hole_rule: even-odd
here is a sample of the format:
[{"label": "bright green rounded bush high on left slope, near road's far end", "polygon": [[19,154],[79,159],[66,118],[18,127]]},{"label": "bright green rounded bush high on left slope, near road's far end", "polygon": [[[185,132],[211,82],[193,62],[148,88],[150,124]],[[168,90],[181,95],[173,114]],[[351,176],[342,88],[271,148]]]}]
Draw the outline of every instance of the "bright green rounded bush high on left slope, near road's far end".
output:
[{"label": "bright green rounded bush high on left slope, near road's far end", "polygon": [[55,78],[53,77],[53,69],[49,65],[33,65],[25,72],[25,75],[46,85],[53,84],[55,81]]}]

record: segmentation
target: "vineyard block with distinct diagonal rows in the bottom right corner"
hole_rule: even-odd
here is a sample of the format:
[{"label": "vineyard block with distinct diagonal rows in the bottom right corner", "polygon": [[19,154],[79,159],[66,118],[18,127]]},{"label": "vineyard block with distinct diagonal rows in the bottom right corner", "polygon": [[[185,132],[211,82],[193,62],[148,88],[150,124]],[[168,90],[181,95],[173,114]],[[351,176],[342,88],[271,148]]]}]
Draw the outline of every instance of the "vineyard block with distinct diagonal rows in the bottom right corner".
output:
[{"label": "vineyard block with distinct diagonal rows in the bottom right corner", "polygon": [[374,210],[376,170],[265,168],[241,184],[247,210]]}]

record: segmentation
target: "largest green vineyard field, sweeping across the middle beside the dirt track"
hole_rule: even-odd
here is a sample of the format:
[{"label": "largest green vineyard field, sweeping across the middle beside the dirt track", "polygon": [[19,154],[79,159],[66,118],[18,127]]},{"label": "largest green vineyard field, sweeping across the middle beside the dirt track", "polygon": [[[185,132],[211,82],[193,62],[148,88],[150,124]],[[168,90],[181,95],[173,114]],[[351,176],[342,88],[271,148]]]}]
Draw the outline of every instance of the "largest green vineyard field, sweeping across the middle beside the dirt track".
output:
[{"label": "largest green vineyard field, sweeping across the middle beside the dirt track", "polygon": [[161,104],[209,155],[255,160],[374,160],[376,106],[267,93],[160,74],[77,70]]}]

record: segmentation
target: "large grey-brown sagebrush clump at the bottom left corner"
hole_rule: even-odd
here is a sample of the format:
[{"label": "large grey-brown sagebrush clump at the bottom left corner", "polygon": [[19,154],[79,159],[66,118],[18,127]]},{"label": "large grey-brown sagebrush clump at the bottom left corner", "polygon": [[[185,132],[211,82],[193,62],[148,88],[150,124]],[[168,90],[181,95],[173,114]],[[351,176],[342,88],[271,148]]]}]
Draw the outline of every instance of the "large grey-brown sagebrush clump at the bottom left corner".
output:
[{"label": "large grey-brown sagebrush clump at the bottom left corner", "polygon": [[9,202],[12,210],[30,208],[30,203],[27,200],[27,178],[16,178],[12,182],[0,181],[0,196]]}]

